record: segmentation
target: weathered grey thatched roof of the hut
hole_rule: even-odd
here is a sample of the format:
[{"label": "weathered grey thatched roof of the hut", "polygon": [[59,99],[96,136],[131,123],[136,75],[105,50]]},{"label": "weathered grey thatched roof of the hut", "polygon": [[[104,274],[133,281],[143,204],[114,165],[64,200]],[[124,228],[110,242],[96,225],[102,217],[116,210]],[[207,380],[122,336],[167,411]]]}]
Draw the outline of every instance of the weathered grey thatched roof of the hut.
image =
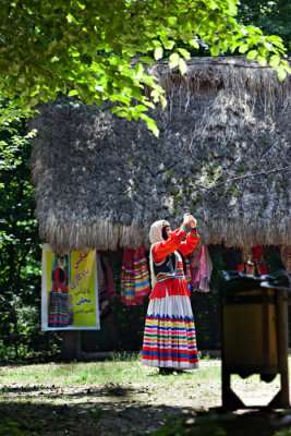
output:
[{"label": "weathered grey thatched roof of the hut", "polygon": [[74,104],[43,108],[34,124],[36,216],[57,252],[148,247],[156,219],[185,209],[207,244],[291,243],[290,89],[244,58],[196,58],[181,76],[151,68],[168,105],[144,122]]}]

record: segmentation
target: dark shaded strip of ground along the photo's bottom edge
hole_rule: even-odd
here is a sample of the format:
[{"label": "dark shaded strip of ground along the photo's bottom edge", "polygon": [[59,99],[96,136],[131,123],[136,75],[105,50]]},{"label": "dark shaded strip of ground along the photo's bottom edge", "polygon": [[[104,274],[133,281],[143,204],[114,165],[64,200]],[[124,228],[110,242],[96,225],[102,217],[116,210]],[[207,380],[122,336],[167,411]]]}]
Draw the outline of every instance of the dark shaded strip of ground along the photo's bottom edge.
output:
[{"label": "dark shaded strip of ground along the photo's bottom edge", "polygon": [[[94,402],[80,396],[71,404],[2,401],[1,436],[272,436],[290,424],[291,415],[266,410],[222,413],[129,401]],[[290,411],[291,413],[291,411]],[[291,436],[290,433],[284,433]]]}]

